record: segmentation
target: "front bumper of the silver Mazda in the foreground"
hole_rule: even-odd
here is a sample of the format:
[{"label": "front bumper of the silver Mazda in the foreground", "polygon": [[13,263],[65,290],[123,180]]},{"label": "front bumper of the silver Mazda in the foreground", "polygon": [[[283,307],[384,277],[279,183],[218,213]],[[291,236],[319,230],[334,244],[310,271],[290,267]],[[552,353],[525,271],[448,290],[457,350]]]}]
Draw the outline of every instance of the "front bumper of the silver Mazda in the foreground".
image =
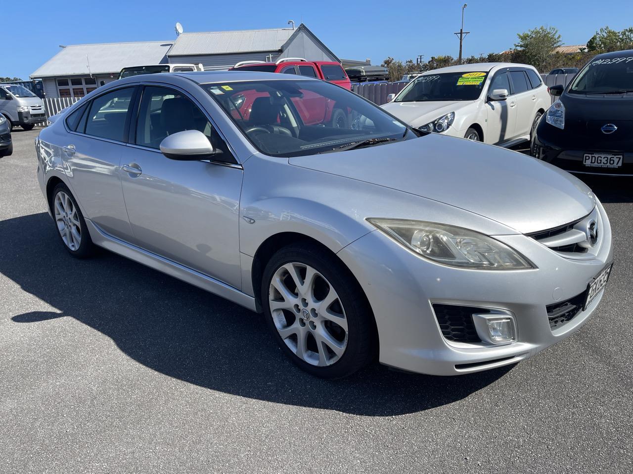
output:
[{"label": "front bumper of the silver Mazda in the foreground", "polygon": [[[339,253],[372,306],[379,332],[380,362],[433,375],[479,372],[519,362],[577,331],[602,294],[570,322],[551,329],[547,305],[586,291],[611,261],[611,230],[598,204],[603,238],[597,257],[561,257],[524,235],[496,236],[537,265],[532,270],[470,270],[434,264],[373,231]],[[442,336],[434,303],[493,308],[515,318],[517,341],[505,346],[458,343]]]}]

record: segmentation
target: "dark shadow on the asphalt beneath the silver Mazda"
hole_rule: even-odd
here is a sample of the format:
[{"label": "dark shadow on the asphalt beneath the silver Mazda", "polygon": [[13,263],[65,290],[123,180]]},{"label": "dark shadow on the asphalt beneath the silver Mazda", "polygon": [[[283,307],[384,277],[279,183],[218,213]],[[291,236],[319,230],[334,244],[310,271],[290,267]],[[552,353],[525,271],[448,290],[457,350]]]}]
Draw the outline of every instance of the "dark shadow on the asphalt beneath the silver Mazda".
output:
[{"label": "dark shadow on the asphalt beneath the silver Mazda", "polygon": [[348,379],[317,379],[285,358],[260,315],[110,252],[70,257],[46,213],[0,221],[0,238],[0,272],[56,308],[18,314],[13,322],[73,317],[142,365],[208,389],[392,416],[465,398],[511,370],[432,377],[375,364]]}]

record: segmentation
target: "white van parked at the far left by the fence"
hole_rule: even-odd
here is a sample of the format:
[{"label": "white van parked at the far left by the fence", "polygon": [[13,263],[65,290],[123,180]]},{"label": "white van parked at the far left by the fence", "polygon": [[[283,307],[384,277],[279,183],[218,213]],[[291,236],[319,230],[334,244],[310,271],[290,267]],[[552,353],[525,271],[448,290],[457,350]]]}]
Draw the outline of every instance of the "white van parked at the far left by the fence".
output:
[{"label": "white van parked at the far left by the fence", "polygon": [[32,130],[46,121],[44,102],[23,85],[0,84],[0,114],[7,119],[9,130],[16,125]]}]

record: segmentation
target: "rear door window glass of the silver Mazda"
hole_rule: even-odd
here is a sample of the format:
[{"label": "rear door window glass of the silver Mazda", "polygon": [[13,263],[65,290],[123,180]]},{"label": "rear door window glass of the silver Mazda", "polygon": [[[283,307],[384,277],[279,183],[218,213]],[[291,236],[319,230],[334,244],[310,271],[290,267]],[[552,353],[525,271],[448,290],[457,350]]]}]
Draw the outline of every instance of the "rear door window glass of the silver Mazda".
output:
[{"label": "rear door window glass of the silver Mazda", "polygon": [[134,87],[125,87],[92,100],[85,124],[86,135],[125,141],[125,123],[133,93]]}]

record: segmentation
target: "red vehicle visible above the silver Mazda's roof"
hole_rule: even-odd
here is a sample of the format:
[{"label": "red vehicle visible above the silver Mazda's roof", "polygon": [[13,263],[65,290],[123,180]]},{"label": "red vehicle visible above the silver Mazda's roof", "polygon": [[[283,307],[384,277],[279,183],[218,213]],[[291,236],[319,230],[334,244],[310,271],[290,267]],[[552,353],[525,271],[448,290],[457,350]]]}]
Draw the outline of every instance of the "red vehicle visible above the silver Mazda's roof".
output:
[{"label": "red vehicle visible above the silver Mazda's roof", "polygon": [[341,67],[341,64],[332,61],[306,61],[303,58],[283,58],[276,63],[242,61],[229,69],[229,71],[232,70],[310,76],[340,85],[348,90],[352,88],[349,77]]}]

